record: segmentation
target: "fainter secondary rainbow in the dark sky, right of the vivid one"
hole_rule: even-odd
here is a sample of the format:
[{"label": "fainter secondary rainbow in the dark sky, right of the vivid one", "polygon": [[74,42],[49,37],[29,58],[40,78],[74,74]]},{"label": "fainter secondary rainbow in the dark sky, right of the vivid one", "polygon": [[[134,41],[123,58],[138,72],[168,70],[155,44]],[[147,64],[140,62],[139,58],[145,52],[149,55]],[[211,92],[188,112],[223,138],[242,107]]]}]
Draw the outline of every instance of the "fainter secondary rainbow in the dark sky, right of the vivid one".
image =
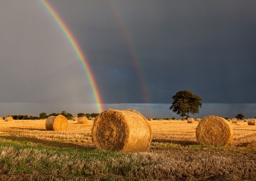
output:
[{"label": "fainter secondary rainbow in the dark sky, right of the vivid one", "polygon": [[143,69],[141,68],[138,52],[136,52],[136,50],[134,48],[134,43],[132,41],[131,33],[129,33],[128,26],[125,24],[125,20],[122,17],[122,13],[118,10],[118,6],[115,4],[115,2],[113,0],[109,0],[109,1],[110,1],[109,4],[113,11],[114,17],[116,19],[116,22],[118,22],[118,25],[119,25],[119,27],[122,31],[123,37],[125,39],[125,42],[127,43],[127,47],[129,48],[129,52],[132,57],[132,62],[136,68],[138,80],[139,80],[140,86],[141,86],[141,91],[143,93],[142,94],[143,101],[145,101],[145,103],[150,103],[150,96],[149,96],[149,92],[148,92],[149,89],[146,85],[146,78],[143,74]]}]

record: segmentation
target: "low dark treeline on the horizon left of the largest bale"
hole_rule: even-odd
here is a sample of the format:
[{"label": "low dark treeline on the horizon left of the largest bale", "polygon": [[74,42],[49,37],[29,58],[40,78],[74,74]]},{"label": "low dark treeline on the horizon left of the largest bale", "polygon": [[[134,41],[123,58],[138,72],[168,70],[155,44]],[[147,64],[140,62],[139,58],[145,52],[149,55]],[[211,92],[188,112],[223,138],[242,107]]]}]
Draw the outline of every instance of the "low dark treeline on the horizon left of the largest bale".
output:
[{"label": "low dark treeline on the horizon left of the largest bale", "polygon": [[[29,116],[29,115],[9,115],[12,116],[13,119],[15,120],[36,120],[36,119],[47,119],[50,116],[57,116],[57,115],[63,115],[65,116],[67,119],[72,119],[74,116],[72,115],[72,113],[68,113],[68,112],[61,112],[61,113],[50,113],[49,115],[47,115],[47,113],[42,112],[39,114],[39,116]],[[92,118],[92,117],[97,117],[97,115],[99,115],[99,113],[78,113],[77,117],[83,117],[86,116],[88,119]]]}]

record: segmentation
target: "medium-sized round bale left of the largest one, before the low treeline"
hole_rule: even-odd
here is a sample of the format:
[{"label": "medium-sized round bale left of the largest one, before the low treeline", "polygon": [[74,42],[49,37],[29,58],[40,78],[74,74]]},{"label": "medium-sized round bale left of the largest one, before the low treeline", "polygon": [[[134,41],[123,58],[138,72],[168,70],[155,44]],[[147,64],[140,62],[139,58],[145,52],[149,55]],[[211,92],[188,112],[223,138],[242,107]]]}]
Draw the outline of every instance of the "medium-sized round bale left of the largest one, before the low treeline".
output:
[{"label": "medium-sized round bale left of the largest one, before the low treeline", "polygon": [[63,115],[50,116],[45,121],[47,131],[63,131],[68,128],[68,120]]}]

